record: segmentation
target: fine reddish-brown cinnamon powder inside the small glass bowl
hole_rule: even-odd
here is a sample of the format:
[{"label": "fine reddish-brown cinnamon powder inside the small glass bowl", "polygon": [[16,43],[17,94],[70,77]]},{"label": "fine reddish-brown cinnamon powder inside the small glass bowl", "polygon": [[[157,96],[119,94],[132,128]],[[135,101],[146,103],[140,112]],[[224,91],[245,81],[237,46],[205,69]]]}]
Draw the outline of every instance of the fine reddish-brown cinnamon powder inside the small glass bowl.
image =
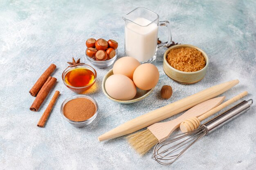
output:
[{"label": "fine reddish-brown cinnamon powder inside the small glass bowl", "polygon": [[76,98],[64,105],[63,113],[72,121],[85,121],[96,113],[96,106],[89,99]]}]

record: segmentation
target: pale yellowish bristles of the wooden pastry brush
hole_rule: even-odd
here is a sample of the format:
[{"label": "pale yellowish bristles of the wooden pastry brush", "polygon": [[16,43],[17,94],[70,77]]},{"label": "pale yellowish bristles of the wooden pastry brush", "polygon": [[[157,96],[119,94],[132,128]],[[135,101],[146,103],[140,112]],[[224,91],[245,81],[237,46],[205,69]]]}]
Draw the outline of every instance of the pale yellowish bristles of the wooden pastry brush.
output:
[{"label": "pale yellowish bristles of the wooden pastry brush", "polygon": [[126,139],[130,146],[141,156],[153,148],[158,142],[158,139],[148,129],[129,135]]}]

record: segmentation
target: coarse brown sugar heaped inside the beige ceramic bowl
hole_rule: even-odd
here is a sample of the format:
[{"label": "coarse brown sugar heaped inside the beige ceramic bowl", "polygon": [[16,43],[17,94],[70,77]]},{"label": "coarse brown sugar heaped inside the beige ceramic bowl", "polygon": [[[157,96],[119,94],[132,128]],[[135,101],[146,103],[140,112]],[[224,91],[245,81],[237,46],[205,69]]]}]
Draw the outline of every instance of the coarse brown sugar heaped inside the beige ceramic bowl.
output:
[{"label": "coarse brown sugar heaped inside the beige ceramic bowl", "polygon": [[206,64],[200,51],[188,47],[172,49],[166,59],[173,68],[184,72],[199,71]]}]

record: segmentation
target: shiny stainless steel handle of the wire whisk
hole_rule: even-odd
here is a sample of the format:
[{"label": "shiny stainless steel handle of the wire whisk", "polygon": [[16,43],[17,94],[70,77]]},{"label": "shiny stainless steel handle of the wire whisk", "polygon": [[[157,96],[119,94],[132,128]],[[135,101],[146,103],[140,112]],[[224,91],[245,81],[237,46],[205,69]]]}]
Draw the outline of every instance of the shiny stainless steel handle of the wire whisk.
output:
[{"label": "shiny stainless steel handle of the wire whisk", "polygon": [[[251,104],[249,102],[251,102]],[[220,126],[227,124],[229,121],[235,119],[240,114],[245,113],[247,110],[250,109],[252,102],[252,99],[249,99],[248,101],[244,100],[243,102],[237,104],[236,106],[230,108],[229,110],[202,124],[201,126],[204,126],[207,130],[206,135],[213,132]]]}]

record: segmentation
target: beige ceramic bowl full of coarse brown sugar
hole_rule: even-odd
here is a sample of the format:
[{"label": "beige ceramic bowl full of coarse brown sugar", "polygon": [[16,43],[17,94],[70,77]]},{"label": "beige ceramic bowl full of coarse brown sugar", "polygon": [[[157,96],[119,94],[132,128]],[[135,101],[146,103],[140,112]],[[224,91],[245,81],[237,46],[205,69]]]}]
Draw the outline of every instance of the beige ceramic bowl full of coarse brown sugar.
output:
[{"label": "beige ceramic bowl full of coarse brown sugar", "polygon": [[202,80],[207,72],[209,58],[200,48],[189,44],[171,46],[164,53],[164,72],[182,84]]}]

